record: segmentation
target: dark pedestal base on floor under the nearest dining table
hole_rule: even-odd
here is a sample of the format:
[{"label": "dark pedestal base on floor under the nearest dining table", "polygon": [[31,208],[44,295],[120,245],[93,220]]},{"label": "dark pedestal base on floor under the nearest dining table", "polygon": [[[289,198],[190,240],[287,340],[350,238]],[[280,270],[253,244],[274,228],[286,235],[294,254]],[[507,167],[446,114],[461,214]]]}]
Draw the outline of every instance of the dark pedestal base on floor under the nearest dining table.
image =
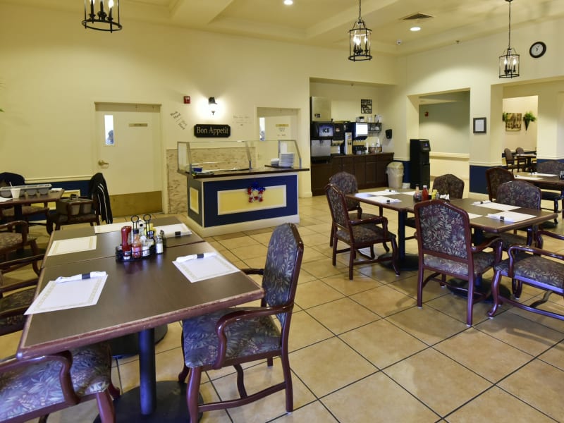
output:
[{"label": "dark pedestal base on floor under the nearest dining table", "polygon": [[[134,388],[114,400],[116,422],[119,423],[176,423],[190,422],[186,404],[186,384],[177,381],[157,382],[157,407],[150,415],[142,415],[139,403],[139,388]],[[203,403],[203,398],[200,397]],[[202,419],[200,413],[198,421]],[[94,423],[100,423],[96,417]]]}]

